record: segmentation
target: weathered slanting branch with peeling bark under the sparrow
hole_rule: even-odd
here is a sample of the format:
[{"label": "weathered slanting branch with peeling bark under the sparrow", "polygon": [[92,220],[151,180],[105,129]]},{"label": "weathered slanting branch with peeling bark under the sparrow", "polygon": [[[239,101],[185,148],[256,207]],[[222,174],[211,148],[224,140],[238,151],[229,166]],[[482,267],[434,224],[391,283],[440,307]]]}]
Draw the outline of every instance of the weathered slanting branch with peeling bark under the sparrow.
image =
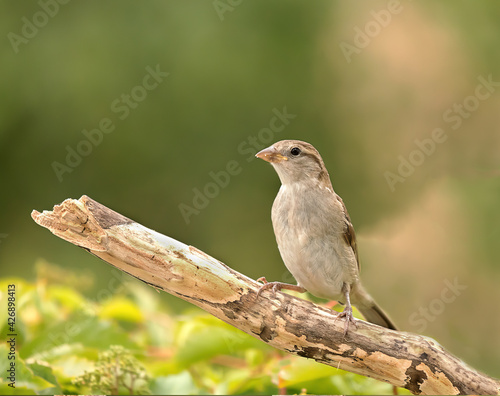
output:
[{"label": "weathered slanting branch with peeling bark under the sparrow", "polygon": [[32,212],[53,234],[141,281],[189,301],[275,348],[386,381],[414,394],[499,394],[500,382],[436,341],[357,321],[343,339],[337,313],[264,291],[193,246],[150,230],[87,196]]}]

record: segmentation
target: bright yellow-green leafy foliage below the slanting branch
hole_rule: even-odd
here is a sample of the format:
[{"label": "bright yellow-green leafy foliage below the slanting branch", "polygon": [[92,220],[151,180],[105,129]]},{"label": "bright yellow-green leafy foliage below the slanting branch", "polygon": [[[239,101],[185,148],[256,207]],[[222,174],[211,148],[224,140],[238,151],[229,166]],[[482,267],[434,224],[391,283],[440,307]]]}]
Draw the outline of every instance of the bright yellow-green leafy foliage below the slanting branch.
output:
[{"label": "bright yellow-green leafy foliage below the slanting branch", "polygon": [[[388,384],[282,353],[196,308],[173,313],[136,280],[96,302],[50,268],[33,283],[0,279],[2,309],[7,285],[16,285],[17,299],[16,388],[2,376],[1,394],[391,393]],[[7,348],[0,345],[0,356]],[[0,370],[8,364],[0,359]]]}]

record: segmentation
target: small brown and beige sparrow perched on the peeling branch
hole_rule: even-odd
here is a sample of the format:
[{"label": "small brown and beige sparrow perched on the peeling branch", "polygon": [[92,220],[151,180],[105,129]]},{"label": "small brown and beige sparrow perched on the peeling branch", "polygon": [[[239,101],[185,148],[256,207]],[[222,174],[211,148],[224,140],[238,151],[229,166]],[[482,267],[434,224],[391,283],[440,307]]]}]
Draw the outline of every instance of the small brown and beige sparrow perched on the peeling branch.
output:
[{"label": "small brown and beige sparrow perched on the peeling branch", "polygon": [[319,152],[300,140],[282,140],[258,152],[271,163],[281,187],[272,208],[272,223],[283,262],[297,285],[264,282],[257,292],[295,290],[335,300],[345,308],[344,336],[354,322],[352,305],[371,323],[396,326],[361,285],[354,228],[347,209],[333,190]]}]

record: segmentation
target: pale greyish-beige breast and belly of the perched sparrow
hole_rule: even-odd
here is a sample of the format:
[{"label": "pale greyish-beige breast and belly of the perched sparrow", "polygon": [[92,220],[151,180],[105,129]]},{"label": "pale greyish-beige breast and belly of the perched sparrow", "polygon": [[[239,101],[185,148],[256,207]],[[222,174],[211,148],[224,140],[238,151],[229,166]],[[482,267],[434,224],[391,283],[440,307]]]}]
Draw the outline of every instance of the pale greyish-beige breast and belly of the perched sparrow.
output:
[{"label": "pale greyish-beige breast and belly of the perched sparrow", "polygon": [[318,297],[339,299],[342,283],[357,276],[351,269],[357,263],[332,197],[327,190],[282,186],[272,222],[281,257],[298,284]]}]

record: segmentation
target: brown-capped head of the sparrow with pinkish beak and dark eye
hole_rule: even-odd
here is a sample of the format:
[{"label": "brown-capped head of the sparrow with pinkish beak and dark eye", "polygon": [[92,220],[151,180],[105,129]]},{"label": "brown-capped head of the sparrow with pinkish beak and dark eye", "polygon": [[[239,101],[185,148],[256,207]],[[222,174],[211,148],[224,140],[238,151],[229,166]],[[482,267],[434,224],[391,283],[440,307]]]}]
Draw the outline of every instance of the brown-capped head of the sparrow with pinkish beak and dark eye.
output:
[{"label": "brown-capped head of the sparrow with pinkish beak and dark eye", "polygon": [[257,158],[269,162],[281,184],[319,182],[328,187],[330,176],[323,159],[311,144],[300,140],[281,140],[259,151]]}]

